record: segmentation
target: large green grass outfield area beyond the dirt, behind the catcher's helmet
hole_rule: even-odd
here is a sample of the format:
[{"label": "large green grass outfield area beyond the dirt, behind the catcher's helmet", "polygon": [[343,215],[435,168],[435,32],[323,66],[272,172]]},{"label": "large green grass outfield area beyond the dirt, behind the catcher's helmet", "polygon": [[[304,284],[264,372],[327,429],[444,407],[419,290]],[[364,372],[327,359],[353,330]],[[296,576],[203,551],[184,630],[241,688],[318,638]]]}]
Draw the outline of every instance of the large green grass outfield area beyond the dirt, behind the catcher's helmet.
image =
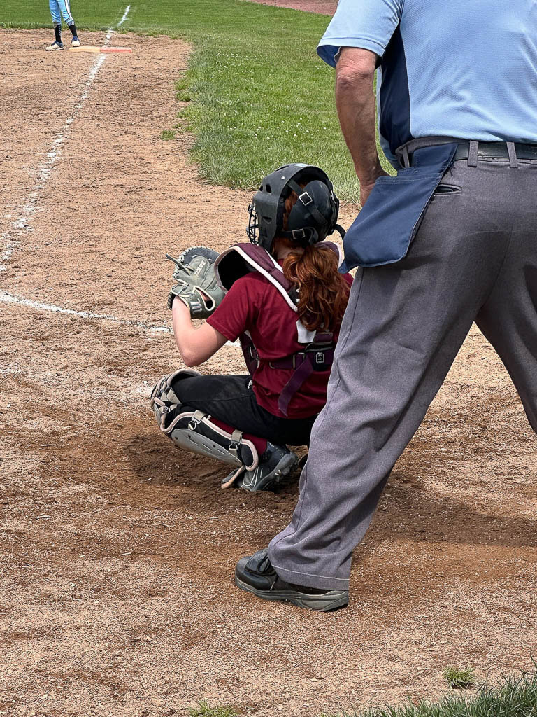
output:
[{"label": "large green grass outfield area beyond the dirt, behind the catcher's helmet", "polygon": [[[77,26],[106,29],[127,0],[92,0],[72,11]],[[315,52],[329,18],[246,0],[131,1],[125,31],[168,34],[193,44],[178,79],[181,128],[214,184],[255,189],[283,163],[318,164],[337,194],[357,201],[358,182],[339,130],[334,71]],[[49,27],[45,0],[4,0],[3,27]]]}]

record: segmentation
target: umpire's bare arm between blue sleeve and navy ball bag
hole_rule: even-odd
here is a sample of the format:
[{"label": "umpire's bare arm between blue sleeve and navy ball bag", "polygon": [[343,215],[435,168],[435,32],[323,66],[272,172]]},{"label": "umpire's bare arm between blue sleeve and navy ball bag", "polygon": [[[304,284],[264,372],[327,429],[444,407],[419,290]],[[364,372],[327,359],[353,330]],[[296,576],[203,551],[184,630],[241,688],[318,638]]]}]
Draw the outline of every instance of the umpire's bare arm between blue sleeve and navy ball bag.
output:
[{"label": "umpire's bare arm between blue sleeve and navy ball bag", "polygon": [[[336,67],[336,106],[339,123],[362,193],[369,195],[385,174],[377,153],[373,77],[377,56],[366,49],[342,48]],[[367,199],[365,196],[365,199]]]}]

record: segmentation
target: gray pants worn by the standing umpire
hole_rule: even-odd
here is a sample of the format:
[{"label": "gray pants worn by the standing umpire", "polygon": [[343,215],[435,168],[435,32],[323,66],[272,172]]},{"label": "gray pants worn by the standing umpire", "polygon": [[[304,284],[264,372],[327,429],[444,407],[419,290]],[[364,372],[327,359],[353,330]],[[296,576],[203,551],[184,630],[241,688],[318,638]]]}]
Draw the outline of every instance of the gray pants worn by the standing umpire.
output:
[{"label": "gray pants worn by the standing umpire", "polygon": [[269,557],[286,581],[347,589],[388,475],[473,321],[537,431],[537,161],[455,162],[404,260],[352,285],[290,525]]}]

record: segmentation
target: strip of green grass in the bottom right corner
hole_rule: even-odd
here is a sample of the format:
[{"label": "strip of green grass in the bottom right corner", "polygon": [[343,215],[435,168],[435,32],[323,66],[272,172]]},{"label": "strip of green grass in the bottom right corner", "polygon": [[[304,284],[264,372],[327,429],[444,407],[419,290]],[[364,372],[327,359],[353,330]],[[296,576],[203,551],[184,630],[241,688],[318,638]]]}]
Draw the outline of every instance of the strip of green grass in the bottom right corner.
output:
[{"label": "strip of green grass in the bottom right corner", "polygon": [[483,685],[470,697],[451,693],[436,703],[374,707],[330,717],[537,717],[537,670],[520,678],[505,677],[495,687]]}]

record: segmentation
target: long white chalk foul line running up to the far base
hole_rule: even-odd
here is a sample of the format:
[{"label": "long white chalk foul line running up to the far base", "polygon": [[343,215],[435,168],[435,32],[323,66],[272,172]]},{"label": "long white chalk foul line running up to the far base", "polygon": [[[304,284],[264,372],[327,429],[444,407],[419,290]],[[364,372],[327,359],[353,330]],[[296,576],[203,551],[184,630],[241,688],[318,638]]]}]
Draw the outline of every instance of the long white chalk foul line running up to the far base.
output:
[{"label": "long white chalk foul line running up to the far base", "polygon": [[[127,7],[125,8],[125,12],[120,19],[120,22],[117,23],[117,26],[115,28],[111,27],[108,30],[105,39],[105,46],[110,44],[110,39],[112,39],[112,36],[115,33],[116,29],[118,27],[121,27],[122,24],[125,22],[129,11],[130,5],[127,5]],[[76,118],[77,114],[82,109],[82,105],[84,105],[85,100],[87,100],[89,90],[91,89],[95,77],[97,77],[97,72],[99,72],[102,63],[105,62],[105,60],[106,55],[101,54],[100,57],[97,57],[97,59],[93,62],[92,67],[89,70],[89,76],[84,84],[84,89],[82,90],[82,94],[78,98],[78,103],[74,108],[72,116],[67,118],[62,130],[60,130],[60,132],[54,138],[52,146],[47,152],[47,156],[44,158],[44,161],[39,165],[39,167],[37,167],[37,184],[32,187],[28,198],[24,202],[23,206],[19,208],[19,217],[14,222],[11,222],[11,229],[1,235],[3,247],[0,255],[0,272],[6,270],[6,262],[9,261],[16,247],[20,245],[20,242],[13,236],[13,234],[16,233],[18,237],[21,237],[21,235],[25,232],[32,231],[32,217],[39,209],[39,195],[41,194],[44,185],[47,183],[47,180],[52,174],[54,164],[59,157],[60,148],[64,141],[67,130],[69,129],[69,125],[74,122],[74,119]]]}]

